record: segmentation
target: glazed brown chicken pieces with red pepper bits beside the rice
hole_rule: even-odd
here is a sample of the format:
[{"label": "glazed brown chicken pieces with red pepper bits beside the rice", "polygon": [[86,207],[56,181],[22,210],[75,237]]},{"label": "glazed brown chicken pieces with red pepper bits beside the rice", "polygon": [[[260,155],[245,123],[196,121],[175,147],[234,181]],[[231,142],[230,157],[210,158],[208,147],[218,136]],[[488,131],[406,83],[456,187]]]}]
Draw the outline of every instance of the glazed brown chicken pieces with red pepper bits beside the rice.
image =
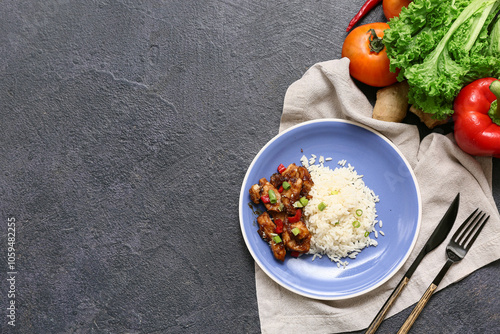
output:
[{"label": "glazed brown chicken pieces with red pepper bits beside the rice", "polygon": [[288,167],[280,164],[269,181],[261,178],[250,187],[252,202],[263,203],[266,208],[257,218],[259,235],[269,243],[277,260],[284,261],[287,251],[294,257],[309,251],[311,234],[303,221],[302,208],[311,199],[313,185],[309,171],[292,163]]}]

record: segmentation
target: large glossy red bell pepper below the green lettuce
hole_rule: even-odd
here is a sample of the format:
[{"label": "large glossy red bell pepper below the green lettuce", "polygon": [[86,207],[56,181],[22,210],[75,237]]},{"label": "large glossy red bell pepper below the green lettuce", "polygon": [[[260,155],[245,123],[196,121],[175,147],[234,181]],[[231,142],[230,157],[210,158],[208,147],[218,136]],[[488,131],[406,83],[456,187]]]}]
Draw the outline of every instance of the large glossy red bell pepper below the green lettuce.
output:
[{"label": "large glossy red bell pepper below the green lettuce", "polygon": [[500,81],[483,78],[468,84],[457,95],[455,140],[460,148],[476,156],[500,158]]}]

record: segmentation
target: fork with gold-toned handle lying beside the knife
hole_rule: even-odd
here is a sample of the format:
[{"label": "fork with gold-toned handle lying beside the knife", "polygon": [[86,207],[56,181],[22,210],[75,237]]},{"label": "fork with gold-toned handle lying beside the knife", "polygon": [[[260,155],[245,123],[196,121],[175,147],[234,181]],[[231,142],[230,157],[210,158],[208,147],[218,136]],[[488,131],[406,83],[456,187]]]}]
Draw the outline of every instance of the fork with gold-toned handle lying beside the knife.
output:
[{"label": "fork with gold-toned handle lying beside the knife", "polygon": [[446,255],[448,259],[446,260],[445,265],[443,266],[439,274],[437,274],[436,278],[434,278],[434,281],[432,281],[431,285],[427,288],[422,298],[420,298],[419,302],[417,303],[411,314],[408,316],[403,326],[401,326],[397,334],[408,333],[411,326],[420,315],[420,312],[422,312],[424,306],[427,304],[434,291],[436,291],[437,286],[443,279],[448,269],[450,269],[453,263],[458,262],[465,257],[465,254],[467,254],[474,241],[476,241],[476,238],[483,229],[484,225],[490,218],[490,216],[486,218],[485,216],[486,213],[483,213],[482,211],[479,211],[479,209],[476,209],[462,223],[462,225],[460,225],[458,230],[451,238],[450,243],[448,244],[448,246],[446,246]]}]

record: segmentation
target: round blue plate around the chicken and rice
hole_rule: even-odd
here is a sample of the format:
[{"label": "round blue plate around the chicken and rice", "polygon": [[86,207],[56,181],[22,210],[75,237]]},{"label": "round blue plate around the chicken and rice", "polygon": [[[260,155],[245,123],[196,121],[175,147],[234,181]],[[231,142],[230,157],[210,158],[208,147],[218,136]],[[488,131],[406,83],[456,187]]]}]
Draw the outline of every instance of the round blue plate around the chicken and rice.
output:
[{"label": "round blue plate around the chicken and rice", "polygon": [[[312,255],[277,261],[269,245],[257,233],[257,213],[248,190],[258,180],[269,177],[282,163],[300,165],[311,154],[333,160],[331,169],[345,159],[363,175],[366,186],[379,196],[378,220],[385,236],[378,246],[368,247],[338,268],[327,256]],[[260,208],[263,211],[263,208]],[[413,171],[397,147],[380,133],[357,123],[321,119],[301,123],[269,141],[252,161],[240,193],[240,225],[245,243],[256,263],[281,286],[299,295],[322,300],[352,298],[371,291],[390,279],[406,262],[420,230],[420,191]],[[371,237],[374,238],[373,233]]]}]

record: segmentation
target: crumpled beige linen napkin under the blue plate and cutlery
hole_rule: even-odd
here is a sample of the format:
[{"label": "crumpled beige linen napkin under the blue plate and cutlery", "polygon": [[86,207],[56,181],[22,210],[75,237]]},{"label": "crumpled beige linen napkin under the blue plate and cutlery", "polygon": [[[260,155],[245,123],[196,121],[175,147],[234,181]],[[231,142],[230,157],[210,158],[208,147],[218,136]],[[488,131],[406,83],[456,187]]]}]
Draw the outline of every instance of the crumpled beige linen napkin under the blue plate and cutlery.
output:
[{"label": "crumpled beige linen napkin under the blue plate and cutlery", "polygon": [[[339,333],[368,327],[458,192],[460,208],[453,230],[478,207],[491,218],[465,259],[448,271],[439,289],[500,258],[500,217],[491,190],[491,158],[475,159],[465,154],[452,136],[433,133],[420,141],[416,126],[374,120],[372,109],[349,76],[347,58],[318,63],[288,88],[280,131],[311,119],[342,118],[365,124],[392,140],[409,161],[420,186],[423,215],[417,244],[392,279],[366,295],[341,301],[296,295],[256,265],[262,333]],[[446,261],[444,249],[452,233],[424,258],[388,316],[420,299]]]}]

